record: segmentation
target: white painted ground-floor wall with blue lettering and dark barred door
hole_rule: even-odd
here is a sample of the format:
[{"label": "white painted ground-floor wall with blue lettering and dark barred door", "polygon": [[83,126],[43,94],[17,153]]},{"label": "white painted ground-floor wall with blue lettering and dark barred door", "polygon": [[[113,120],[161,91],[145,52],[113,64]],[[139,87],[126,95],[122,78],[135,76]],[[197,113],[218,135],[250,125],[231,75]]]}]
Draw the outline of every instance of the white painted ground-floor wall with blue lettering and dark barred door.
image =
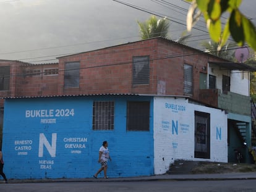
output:
[{"label": "white painted ground-floor wall with blue lettering and dark barred door", "polygon": [[[210,159],[194,158],[194,111],[210,113]],[[190,104],[185,98],[155,97],[153,116],[155,174],[165,173],[176,159],[228,162],[228,117],[224,111]],[[177,122],[177,133],[173,122]]]}]

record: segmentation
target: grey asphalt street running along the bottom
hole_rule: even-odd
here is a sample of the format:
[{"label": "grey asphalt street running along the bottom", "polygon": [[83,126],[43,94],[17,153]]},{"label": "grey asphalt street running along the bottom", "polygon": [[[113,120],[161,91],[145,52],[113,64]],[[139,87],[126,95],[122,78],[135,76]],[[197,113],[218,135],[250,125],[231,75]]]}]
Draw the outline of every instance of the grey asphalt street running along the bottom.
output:
[{"label": "grey asphalt street running along the bottom", "polygon": [[1,192],[82,192],[82,191],[179,191],[179,192],[253,192],[256,180],[220,180],[220,181],[174,181],[154,182],[51,182],[51,183],[0,183]]}]

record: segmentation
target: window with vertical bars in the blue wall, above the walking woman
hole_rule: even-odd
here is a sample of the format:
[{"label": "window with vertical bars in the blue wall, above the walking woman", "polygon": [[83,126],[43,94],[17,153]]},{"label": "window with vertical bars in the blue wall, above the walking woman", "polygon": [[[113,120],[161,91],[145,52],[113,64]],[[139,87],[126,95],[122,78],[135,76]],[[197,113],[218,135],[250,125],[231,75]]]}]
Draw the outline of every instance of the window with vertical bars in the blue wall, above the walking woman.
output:
[{"label": "window with vertical bars in the blue wall, above the walking woman", "polygon": [[114,130],[114,101],[93,102],[93,130]]}]

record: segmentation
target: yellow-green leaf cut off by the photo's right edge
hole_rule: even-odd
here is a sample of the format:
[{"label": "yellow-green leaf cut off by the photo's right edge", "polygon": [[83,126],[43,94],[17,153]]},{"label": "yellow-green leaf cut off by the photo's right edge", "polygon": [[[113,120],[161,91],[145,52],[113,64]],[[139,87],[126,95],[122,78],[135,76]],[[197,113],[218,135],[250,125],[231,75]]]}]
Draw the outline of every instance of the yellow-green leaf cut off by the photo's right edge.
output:
[{"label": "yellow-green leaf cut off by the photo's right edge", "polygon": [[242,25],[244,27],[244,35],[247,44],[256,51],[256,29],[249,19],[242,16]]}]

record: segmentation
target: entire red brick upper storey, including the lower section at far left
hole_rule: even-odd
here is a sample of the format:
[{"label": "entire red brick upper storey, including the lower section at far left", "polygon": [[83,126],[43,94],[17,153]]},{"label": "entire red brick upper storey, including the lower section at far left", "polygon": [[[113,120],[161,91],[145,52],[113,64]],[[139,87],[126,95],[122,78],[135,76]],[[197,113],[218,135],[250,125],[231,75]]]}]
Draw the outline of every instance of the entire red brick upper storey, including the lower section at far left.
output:
[{"label": "entire red brick upper storey, including the lower section at far left", "polygon": [[[150,56],[150,83],[132,85],[132,58]],[[11,62],[11,87],[0,96],[47,96],[61,94],[140,93],[184,95],[184,64],[193,67],[191,96],[200,100],[200,72],[207,73],[208,61],[220,59],[163,38],[137,41],[95,51],[59,57],[59,64],[31,65]],[[80,62],[79,87],[64,88],[64,65]],[[8,62],[10,64],[10,62]],[[46,68],[58,75],[44,75]],[[40,75],[30,71],[41,70]]]}]

